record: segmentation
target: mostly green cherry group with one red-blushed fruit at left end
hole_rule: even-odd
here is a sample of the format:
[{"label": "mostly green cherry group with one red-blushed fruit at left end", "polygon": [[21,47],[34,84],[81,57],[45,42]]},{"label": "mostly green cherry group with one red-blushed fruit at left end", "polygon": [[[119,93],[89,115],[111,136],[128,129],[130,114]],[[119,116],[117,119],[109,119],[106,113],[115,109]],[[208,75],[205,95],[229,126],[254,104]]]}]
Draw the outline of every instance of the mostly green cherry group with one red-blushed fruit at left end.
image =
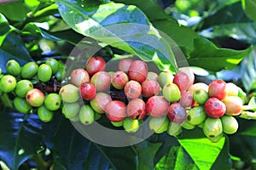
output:
[{"label": "mostly green cherry group with one red-blushed fruit at left end", "polygon": [[[14,94],[13,105],[20,113],[37,111],[43,122],[49,122],[54,111],[61,108],[61,80],[65,65],[56,59],[47,59],[44,64],[28,62],[22,67],[15,59],[6,64],[7,74],[0,76],[0,94]],[[36,110],[35,110],[36,109]]]}]

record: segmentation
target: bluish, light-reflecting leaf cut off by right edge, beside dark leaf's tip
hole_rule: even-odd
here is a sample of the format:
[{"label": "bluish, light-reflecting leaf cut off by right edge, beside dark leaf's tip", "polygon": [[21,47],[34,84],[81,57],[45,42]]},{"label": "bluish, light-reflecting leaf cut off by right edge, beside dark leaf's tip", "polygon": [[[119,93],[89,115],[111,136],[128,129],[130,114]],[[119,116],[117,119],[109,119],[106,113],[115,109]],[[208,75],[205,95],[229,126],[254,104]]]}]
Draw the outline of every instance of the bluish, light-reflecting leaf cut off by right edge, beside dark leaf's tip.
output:
[{"label": "bluish, light-reflecting leaf cut off by right edge, beside dark leaf's tip", "polygon": [[241,82],[247,93],[256,89],[256,48],[241,63]]}]

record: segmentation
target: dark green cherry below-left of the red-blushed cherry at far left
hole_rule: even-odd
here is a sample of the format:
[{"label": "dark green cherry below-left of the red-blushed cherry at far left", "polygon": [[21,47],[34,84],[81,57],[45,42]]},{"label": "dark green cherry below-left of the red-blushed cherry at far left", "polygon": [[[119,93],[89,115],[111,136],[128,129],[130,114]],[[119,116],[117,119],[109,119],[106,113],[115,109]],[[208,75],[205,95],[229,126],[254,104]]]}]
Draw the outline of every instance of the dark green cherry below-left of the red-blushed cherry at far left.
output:
[{"label": "dark green cherry below-left of the red-blushed cherry at far left", "polygon": [[15,105],[15,109],[17,111],[19,111],[20,113],[29,113],[30,111],[32,111],[32,106],[29,105],[27,102],[26,102],[26,99],[25,98],[20,98],[20,97],[16,97],[14,99],[14,105]]}]

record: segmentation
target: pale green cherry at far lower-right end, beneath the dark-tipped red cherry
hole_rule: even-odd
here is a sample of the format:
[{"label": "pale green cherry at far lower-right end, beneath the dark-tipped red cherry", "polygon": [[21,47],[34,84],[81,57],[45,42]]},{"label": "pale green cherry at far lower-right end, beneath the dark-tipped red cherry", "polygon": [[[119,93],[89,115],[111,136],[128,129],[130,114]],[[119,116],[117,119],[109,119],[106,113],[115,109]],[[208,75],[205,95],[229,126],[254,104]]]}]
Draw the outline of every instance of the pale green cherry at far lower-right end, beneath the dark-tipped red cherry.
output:
[{"label": "pale green cherry at far lower-right end, beneath the dark-tipped red cherry", "polygon": [[238,129],[238,122],[236,121],[235,117],[224,115],[220,118],[220,120],[222,122],[224,133],[227,133],[227,134],[236,133]]}]

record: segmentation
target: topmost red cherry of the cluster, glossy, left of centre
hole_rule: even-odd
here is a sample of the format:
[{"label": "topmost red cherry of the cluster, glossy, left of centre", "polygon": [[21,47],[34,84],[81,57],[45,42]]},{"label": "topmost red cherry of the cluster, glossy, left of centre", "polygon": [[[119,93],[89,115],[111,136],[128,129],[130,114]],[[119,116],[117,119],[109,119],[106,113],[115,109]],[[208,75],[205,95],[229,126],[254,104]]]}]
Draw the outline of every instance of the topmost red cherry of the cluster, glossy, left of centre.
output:
[{"label": "topmost red cherry of the cluster, glossy, left of centre", "polygon": [[98,71],[104,71],[106,68],[106,62],[102,57],[93,56],[87,60],[85,64],[85,70],[90,76],[94,75]]}]

